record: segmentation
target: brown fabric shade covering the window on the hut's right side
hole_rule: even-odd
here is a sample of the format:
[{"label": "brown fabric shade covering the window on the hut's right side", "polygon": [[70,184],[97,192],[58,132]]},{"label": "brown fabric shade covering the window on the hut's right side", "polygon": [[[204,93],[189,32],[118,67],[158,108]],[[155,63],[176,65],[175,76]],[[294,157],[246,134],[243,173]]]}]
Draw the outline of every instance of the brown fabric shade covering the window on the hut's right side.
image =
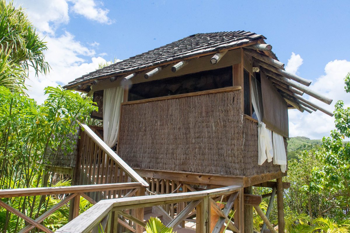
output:
[{"label": "brown fabric shade covering the window on the hut's right side", "polygon": [[262,122],[276,133],[284,137],[289,137],[288,131],[288,107],[287,102],[266,78],[264,73],[260,73],[261,91],[264,117]]}]

